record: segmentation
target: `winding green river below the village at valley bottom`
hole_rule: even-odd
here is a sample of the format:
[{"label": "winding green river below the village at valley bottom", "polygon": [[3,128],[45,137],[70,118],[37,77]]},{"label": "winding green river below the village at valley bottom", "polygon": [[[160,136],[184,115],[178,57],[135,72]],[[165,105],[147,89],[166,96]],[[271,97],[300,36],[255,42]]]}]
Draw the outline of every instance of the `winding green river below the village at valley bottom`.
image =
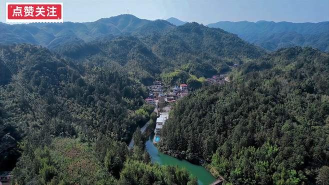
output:
[{"label": "winding green river below the village at valley bottom", "polygon": [[184,167],[192,176],[197,178],[199,185],[208,185],[216,180],[209,171],[200,165],[195,165],[187,160],[179,160],[170,155],[161,153],[153,144],[152,138],[153,134],[148,137],[145,143],[146,150],[151,156],[152,162],[158,162],[160,165],[178,165],[178,167]]}]

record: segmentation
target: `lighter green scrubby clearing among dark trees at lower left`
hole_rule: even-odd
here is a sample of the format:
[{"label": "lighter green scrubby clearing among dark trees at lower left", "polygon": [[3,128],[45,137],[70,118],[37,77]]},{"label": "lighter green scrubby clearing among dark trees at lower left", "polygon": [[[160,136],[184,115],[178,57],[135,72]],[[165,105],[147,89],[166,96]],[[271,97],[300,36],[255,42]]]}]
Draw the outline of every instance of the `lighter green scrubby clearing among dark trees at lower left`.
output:
[{"label": "lighter green scrubby clearing among dark trees at lower left", "polygon": [[23,142],[21,159],[13,170],[19,184],[112,184],[115,178],[104,176],[91,147],[78,139],[54,138],[49,146],[36,147]]}]

